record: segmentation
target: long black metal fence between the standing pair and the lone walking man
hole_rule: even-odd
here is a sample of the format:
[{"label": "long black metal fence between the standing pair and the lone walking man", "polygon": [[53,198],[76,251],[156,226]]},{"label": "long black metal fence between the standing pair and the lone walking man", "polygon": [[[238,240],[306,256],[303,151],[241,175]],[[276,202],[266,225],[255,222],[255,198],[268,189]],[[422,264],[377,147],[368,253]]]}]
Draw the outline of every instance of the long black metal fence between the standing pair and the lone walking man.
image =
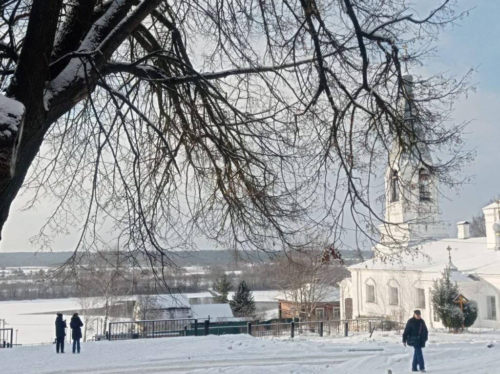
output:
[{"label": "long black metal fence between the standing pair and the lone walking man", "polygon": [[248,333],[255,337],[296,336],[347,336],[349,332],[399,330],[404,323],[381,318],[336,319],[309,322],[276,322],[241,324],[218,324],[208,321],[198,323],[196,319],[161,319],[110,322],[106,334],[108,340],[139,339],[173,336],[202,336]]}]

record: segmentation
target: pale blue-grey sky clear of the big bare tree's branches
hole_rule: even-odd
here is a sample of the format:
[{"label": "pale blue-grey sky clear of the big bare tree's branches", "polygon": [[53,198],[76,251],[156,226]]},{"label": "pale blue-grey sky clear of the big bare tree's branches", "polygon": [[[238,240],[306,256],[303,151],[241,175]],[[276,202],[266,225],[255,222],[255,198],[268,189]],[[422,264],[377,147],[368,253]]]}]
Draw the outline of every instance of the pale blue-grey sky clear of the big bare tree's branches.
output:
[{"label": "pale blue-grey sky clear of the big bare tree's branches", "polygon": [[[435,2],[435,1],[433,1]],[[447,29],[439,42],[438,56],[425,69],[449,70],[458,75],[477,66],[473,82],[477,92],[455,103],[457,122],[472,120],[467,131],[467,148],[475,148],[473,164],[463,175],[475,175],[473,182],[460,188],[458,194],[444,190],[449,200],[441,202],[443,218],[450,221],[450,236],[456,235],[454,223],[470,219],[486,202],[500,193],[500,14],[499,0],[461,0],[461,9],[475,8],[461,21],[461,26]],[[49,215],[51,203],[43,201],[37,211],[19,212],[22,198],[14,201],[2,230],[0,251],[34,251],[28,239],[37,233]],[[56,239],[52,250],[70,250],[77,235]],[[200,243],[201,246],[202,243]]]}]

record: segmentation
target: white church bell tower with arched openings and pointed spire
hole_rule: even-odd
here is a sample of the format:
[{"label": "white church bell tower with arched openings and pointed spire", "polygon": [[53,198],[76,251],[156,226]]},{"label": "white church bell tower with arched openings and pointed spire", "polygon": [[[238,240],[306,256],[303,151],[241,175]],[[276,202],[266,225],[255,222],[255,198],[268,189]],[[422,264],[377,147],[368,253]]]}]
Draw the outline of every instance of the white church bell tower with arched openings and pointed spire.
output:
[{"label": "white church bell tower with arched openings and pointed spire", "polygon": [[[406,69],[404,89],[409,100],[401,105],[403,120],[410,121],[419,137],[424,137],[415,121],[416,107],[411,103],[413,76]],[[408,142],[410,143],[410,142]],[[432,158],[427,148],[418,147],[421,157],[428,165]],[[384,219],[388,223],[378,226],[382,247],[407,246],[429,240],[447,238],[449,224],[441,218],[439,209],[438,180],[429,171],[412,149],[402,149],[394,141],[385,168]],[[378,249],[380,245],[377,245]]]}]

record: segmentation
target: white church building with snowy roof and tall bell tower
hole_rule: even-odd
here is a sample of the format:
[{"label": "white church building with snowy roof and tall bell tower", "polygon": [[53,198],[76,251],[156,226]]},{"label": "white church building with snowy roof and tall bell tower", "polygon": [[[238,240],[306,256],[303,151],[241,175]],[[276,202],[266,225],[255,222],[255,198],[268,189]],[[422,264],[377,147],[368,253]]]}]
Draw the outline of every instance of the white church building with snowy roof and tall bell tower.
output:
[{"label": "white church building with snowy roof and tall bell tower", "polygon": [[[405,75],[412,81],[412,76]],[[411,90],[411,83],[406,87]],[[404,116],[411,116],[405,104]],[[411,153],[411,152],[409,152]],[[430,154],[425,163],[432,164]],[[470,238],[469,223],[457,223],[458,237],[448,238],[442,221],[438,181],[411,154],[394,144],[385,170],[384,220],[373,259],[351,265],[351,277],[340,281],[341,318],[394,316],[404,320],[420,309],[430,327],[442,327],[430,302],[433,281],[445,267],[451,270],[461,294],[477,301],[475,327],[500,328],[500,207],[485,206],[486,237]],[[418,248],[417,251],[411,248]],[[399,258],[387,260],[394,248]],[[407,250],[404,250],[407,248]]]}]

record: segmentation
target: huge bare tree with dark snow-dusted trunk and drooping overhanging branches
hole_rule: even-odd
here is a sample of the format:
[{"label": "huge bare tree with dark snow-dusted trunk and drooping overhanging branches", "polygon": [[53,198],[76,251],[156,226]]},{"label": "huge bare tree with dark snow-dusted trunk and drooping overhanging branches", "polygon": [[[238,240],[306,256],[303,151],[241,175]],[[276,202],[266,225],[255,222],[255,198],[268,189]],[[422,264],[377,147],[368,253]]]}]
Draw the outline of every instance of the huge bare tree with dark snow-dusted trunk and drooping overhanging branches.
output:
[{"label": "huge bare tree with dark snow-dusted trunk and drooping overhanging branches", "polygon": [[348,213],[374,239],[391,144],[447,185],[469,158],[448,122],[466,77],[417,76],[410,95],[401,63],[403,43],[408,65],[434,53],[455,3],[418,18],[406,0],[1,0],[0,229],[21,188],[28,207],[50,196],[34,242],[76,226],[75,263],[110,226],[162,283],[199,236],[273,251],[329,230],[339,246]]}]

